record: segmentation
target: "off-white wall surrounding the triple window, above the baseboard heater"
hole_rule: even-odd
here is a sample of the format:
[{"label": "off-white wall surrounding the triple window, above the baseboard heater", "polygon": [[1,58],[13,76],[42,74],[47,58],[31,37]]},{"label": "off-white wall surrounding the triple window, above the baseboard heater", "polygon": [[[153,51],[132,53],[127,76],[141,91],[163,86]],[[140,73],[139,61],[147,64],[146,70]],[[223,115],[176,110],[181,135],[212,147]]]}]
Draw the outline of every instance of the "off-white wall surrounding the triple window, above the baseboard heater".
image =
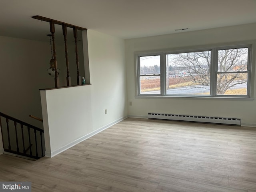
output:
[{"label": "off-white wall surrounding the triple window, above the baseboard heater", "polygon": [[[242,125],[256,126],[256,101],[253,99],[223,98],[136,98],[136,78],[134,52],[146,50],[166,50],[179,48],[207,47],[208,45],[226,45],[233,42],[253,44],[253,62],[255,69],[256,24],[215,28],[194,32],[182,32],[148,38],[125,40],[128,116],[147,117],[148,112],[170,114],[188,114],[205,116],[224,116],[241,118]],[[255,71],[253,72],[252,92],[256,96]]]}]

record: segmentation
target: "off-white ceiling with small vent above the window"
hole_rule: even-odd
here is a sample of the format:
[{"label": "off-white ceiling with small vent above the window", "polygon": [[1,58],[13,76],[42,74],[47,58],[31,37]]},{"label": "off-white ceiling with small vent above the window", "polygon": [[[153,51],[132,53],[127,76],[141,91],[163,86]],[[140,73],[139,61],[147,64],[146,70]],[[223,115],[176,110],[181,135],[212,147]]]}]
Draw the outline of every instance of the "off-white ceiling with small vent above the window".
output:
[{"label": "off-white ceiling with small vent above the window", "polygon": [[0,35],[48,40],[35,15],[130,39],[255,23],[256,0],[0,0]]}]

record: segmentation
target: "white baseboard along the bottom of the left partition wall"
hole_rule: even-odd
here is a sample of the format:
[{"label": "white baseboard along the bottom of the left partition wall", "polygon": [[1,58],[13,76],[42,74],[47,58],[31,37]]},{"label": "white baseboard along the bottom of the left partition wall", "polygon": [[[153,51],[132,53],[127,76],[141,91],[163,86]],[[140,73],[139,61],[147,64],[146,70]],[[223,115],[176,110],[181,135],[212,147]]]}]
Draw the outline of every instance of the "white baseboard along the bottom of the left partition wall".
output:
[{"label": "white baseboard along the bottom of the left partition wall", "polygon": [[99,128],[99,129],[97,129],[97,130],[95,130],[95,131],[93,131],[93,132],[91,132],[91,133],[89,133],[89,134],[87,134],[85,136],[82,136],[81,138],[79,138],[79,139],[77,139],[77,140],[75,140],[75,141],[73,141],[73,142],[71,142],[71,143],[69,143],[69,144],[67,144],[67,145],[65,145],[65,146],[55,150],[55,151],[53,151],[53,152],[47,152],[46,151],[45,152],[45,156],[52,158],[52,157],[60,154],[61,152],[71,148],[72,146],[75,146],[76,144],[78,144],[78,143],[80,143],[80,142],[82,142],[82,141],[84,141],[84,140],[86,140],[86,139],[88,139],[88,138],[98,134],[99,132],[102,132],[103,130],[113,126],[114,124],[117,124],[118,122],[120,122],[120,121],[122,121],[122,120],[124,120],[126,118],[127,118],[127,116],[121,117],[121,118],[119,118],[119,119],[117,119],[117,120],[115,120],[115,121],[113,121],[113,122],[103,126],[102,128]]}]

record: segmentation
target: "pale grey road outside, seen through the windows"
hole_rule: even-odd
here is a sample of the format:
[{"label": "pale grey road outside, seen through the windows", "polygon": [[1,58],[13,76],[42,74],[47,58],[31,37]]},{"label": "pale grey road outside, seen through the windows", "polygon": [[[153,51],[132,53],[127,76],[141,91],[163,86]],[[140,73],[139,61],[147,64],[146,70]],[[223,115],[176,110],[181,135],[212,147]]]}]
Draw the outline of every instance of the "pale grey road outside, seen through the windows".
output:
[{"label": "pale grey road outside, seen through the windows", "polygon": [[[246,88],[245,84],[237,84],[232,89]],[[166,94],[172,95],[193,95],[193,94],[205,94],[210,92],[210,86],[189,86],[181,88],[168,89]],[[160,94],[160,91],[148,91],[142,94]]]}]

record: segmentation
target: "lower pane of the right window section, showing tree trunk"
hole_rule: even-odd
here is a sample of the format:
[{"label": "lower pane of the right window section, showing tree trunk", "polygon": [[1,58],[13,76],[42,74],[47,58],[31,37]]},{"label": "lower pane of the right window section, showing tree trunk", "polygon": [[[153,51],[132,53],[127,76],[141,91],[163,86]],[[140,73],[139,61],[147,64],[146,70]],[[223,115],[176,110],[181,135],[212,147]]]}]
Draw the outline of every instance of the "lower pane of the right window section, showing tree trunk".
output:
[{"label": "lower pane of the right window section, showing tree trunk", "polygon": [[247,95],[247,73],[217,74],[218,95]]}]

